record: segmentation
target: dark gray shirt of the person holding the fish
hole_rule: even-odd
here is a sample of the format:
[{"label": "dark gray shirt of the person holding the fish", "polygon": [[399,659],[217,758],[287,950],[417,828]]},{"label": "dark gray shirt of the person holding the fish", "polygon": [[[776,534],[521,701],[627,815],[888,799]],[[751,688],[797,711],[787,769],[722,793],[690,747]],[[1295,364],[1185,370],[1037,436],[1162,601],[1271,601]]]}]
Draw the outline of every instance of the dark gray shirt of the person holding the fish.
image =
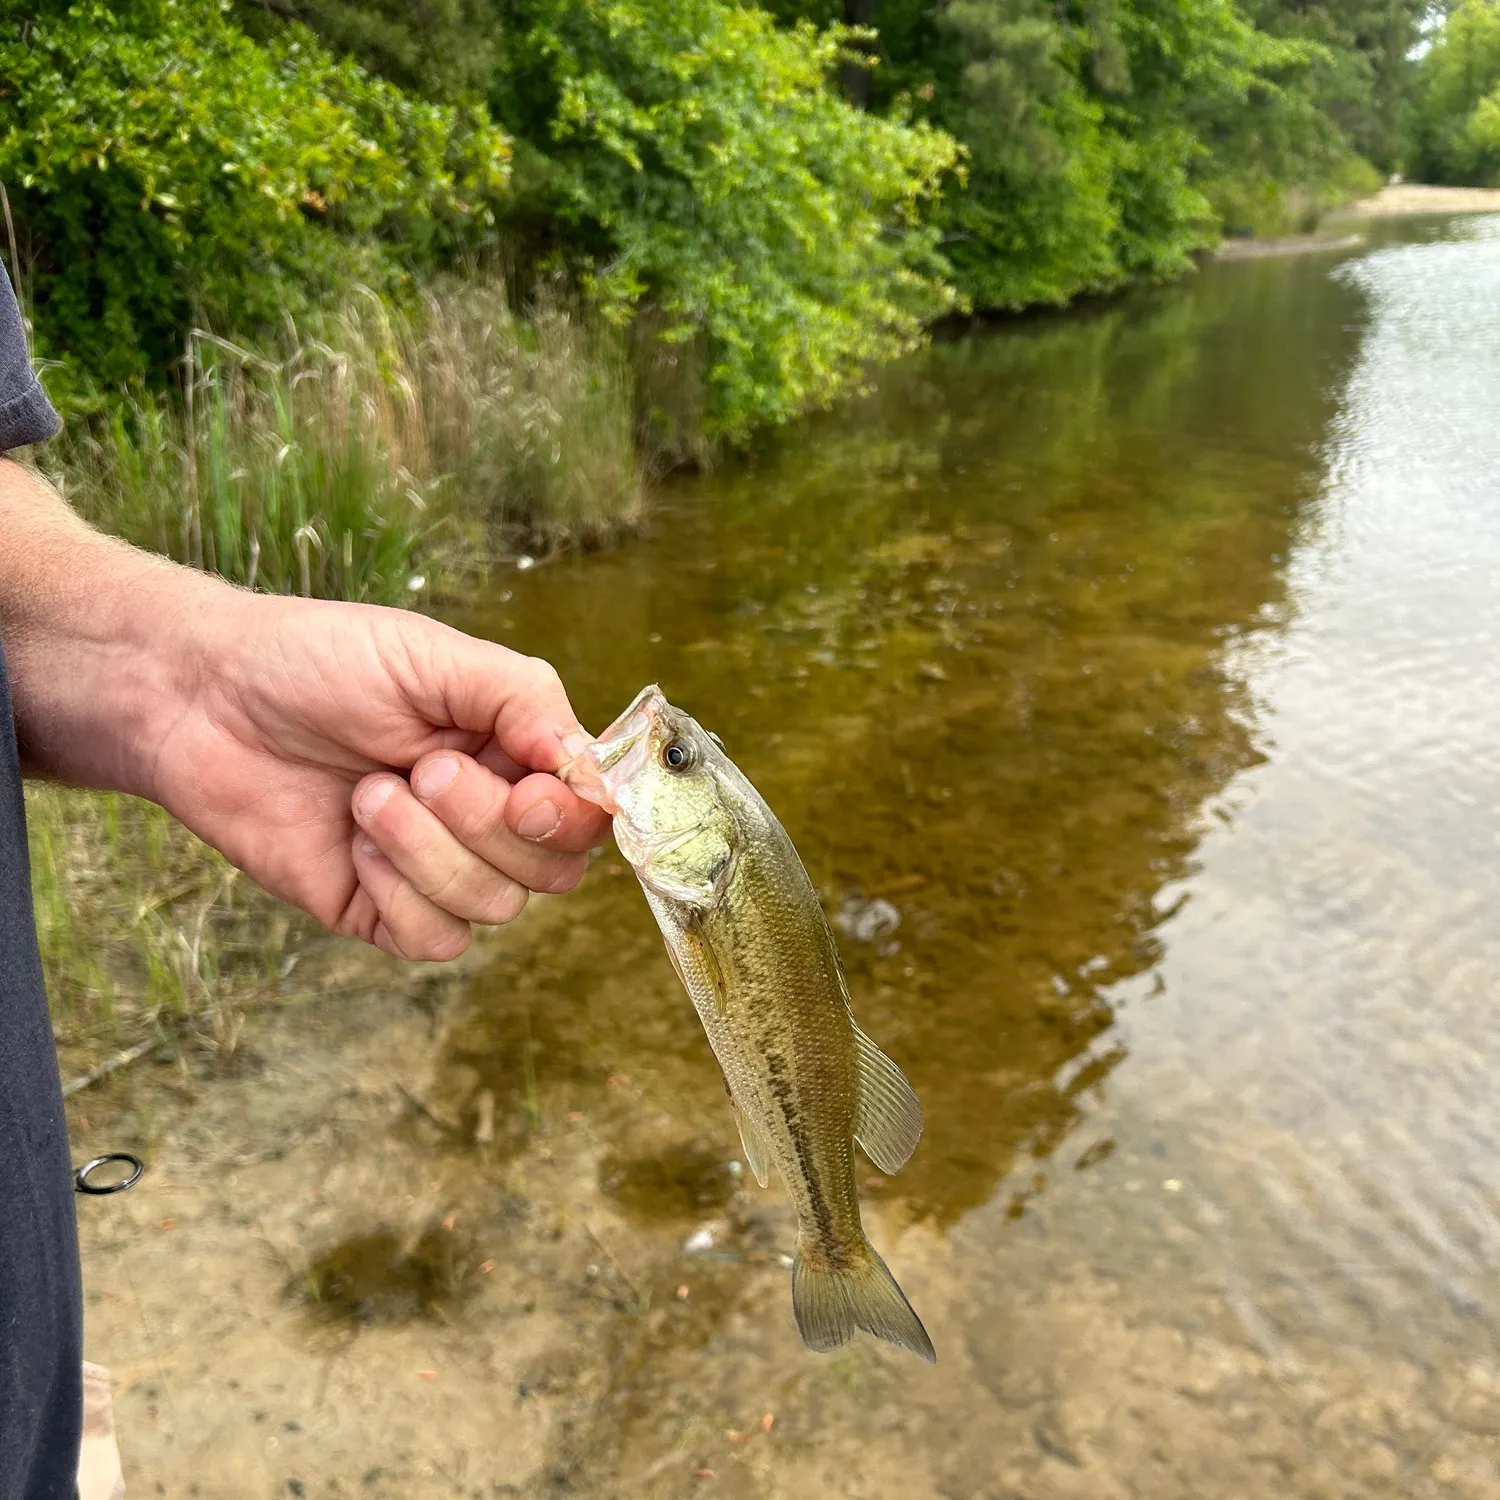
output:
[{"label": "dark gray shirt of the person holding the fish", "polygon": [[[0,453],[57,432],[0,272]],[[0,550],[8,538],[0,534]],[[70,1500],[82,1298],[57,1053],[32,921],[26,807],[0,642],[0,1500]]]}]

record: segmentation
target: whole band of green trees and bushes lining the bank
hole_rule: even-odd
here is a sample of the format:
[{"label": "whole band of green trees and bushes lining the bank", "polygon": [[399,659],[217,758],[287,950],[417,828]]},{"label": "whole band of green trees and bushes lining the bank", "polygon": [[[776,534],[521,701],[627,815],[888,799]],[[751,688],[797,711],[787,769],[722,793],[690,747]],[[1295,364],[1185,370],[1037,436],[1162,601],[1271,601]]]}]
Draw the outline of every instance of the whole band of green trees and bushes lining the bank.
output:
[{"label": "whole band of green trees and bushes lining the bank", "polygon": [[[681,454],[964,300],[1178,274],[1368,189],[1425,3],[0,0],[0,182],[44,352],[105,386],[500,252],[628,326]],[[1430,171],[1500,170],[1494,15],[1424,64]]]}]

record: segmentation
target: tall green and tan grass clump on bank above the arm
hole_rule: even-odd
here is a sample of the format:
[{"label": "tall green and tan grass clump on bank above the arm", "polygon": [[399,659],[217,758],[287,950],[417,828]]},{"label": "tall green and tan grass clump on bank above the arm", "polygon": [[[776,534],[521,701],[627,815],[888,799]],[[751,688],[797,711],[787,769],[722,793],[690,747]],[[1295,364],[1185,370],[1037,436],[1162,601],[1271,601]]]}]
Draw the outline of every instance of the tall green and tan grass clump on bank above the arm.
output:
[{"label": "tall green and tan grass clump on bank above the arm", "polygon": [[358,292],[273,351],[195,333],[182,396],[114,404],[56,464],[82,514],[180,562],[386,603],[642,508],[621,340],[556,300],[518,318],[498,284],[411,314]]}]

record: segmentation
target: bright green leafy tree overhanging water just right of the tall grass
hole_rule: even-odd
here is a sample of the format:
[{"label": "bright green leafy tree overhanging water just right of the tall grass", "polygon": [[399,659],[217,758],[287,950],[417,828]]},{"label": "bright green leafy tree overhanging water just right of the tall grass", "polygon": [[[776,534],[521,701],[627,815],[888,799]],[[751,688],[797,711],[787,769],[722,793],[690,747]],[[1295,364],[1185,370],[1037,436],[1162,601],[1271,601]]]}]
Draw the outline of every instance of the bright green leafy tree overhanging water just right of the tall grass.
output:
[{"label": "bright green leafy tree overhanging water just right of the tall grass", "polygon": [[706,417],[742,438],[837,394],[951,306],[921,222],[956,162],[832,88],[846,36],[732,0],[518,8],[496,108],[530,142],[518,220],[586,246],[618,315],[705,340]]}]

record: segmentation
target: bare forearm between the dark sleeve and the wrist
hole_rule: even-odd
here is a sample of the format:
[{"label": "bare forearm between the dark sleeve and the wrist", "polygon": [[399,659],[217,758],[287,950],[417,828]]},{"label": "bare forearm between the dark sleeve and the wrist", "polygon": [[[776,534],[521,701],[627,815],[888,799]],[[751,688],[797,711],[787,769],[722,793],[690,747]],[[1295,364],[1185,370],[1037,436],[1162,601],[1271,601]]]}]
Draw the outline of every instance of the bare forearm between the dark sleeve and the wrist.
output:
[{"label": "bare forearm between the dark sleeve and the wrist", "polygon": [[28,772],[154,795],[159,747],[200,675],[194,621],[226,597],[0,459],[0,640]]}]

